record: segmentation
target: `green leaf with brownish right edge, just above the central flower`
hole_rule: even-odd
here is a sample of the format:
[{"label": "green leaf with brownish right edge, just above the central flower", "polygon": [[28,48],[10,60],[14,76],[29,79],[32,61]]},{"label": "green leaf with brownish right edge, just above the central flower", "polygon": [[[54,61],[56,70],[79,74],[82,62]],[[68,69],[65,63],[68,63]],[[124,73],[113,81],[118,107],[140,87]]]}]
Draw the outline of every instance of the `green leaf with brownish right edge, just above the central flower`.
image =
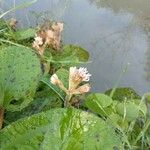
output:
[{"label": "green leaf with brownish right edge, just above the central flower", "polygon": [[67,45],[64,46],[62,53],[53,55],[53,63],[64,64],[65,66],[73,66],[85,63],[89,60],[89,53],[80,46]]}]

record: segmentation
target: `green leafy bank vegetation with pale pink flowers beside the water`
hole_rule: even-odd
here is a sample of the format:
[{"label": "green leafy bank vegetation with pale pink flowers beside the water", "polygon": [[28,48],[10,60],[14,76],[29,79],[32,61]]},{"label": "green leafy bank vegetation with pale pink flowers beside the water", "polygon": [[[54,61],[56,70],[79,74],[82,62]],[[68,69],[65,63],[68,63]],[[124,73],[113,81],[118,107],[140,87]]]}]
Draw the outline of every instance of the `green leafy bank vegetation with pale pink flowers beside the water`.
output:
[{"label": "green leafy bank vegetation with pale pink flowers beside the water", "polygon": [[74,66],[89,54],[62,43],[62,23],[22,30],[13,23],[0,20],[1,150],[150,149],[148,93],[87,94],[90,74]]}]

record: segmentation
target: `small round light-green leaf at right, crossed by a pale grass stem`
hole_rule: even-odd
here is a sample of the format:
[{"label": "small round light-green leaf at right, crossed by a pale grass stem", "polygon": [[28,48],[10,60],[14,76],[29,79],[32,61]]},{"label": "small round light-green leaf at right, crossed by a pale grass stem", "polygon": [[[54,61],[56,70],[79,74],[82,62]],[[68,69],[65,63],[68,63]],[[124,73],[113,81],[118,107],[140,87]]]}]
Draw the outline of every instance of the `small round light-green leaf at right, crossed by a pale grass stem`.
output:
[{"label": "small round light-green leaf at right, crossed by a pale grass stem", "polygon": [[116,111],[122,117],[125,116],[126,120],[133,121],[137,119],[139,115],[139,106],[130,101],[127,103],[118,103],[118,105],[116,105]]}]

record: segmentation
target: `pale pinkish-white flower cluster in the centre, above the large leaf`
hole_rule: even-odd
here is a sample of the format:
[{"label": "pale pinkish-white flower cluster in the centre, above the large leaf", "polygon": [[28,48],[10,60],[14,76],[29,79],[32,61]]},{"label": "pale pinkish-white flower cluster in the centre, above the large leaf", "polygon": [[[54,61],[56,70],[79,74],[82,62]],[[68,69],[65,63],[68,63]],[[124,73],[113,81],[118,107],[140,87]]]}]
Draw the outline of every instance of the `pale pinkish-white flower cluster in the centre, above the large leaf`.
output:
[{"label": "pale pinkish-white flower cluster in the centre, above the large leaf", "polygon": [[59,86],[60,89],[62,89],[67,94],[67,101],[69,102],[73,95],[83,94],[90,91],[91,87],[88,83],[80,85],[80,83],[83,81],[89,81],[90,76],[91,74],[88,73],[86,68],[77,69],[76,67],[70,67],[68,89],[65,88],[64,84],[56,74],[51,76],[50,81],[52,84]]}]

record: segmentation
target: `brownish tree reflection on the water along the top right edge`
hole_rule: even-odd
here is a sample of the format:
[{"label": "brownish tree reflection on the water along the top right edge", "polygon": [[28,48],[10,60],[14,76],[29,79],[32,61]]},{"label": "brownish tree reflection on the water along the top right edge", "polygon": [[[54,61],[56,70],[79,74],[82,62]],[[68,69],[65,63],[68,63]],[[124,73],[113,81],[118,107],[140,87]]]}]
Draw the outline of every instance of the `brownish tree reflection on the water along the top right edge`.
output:
[{"label": "brownish tree reflection on the water along the top right edge", "polygon": [[[150,0],[88,0],[97,8],[110,8],[115,13],[121,11],[134,14],[134,23],[143,28],[148,36],[148,43],[150,43]],[[147,48],[145,60],[146,79],[150,80],[150,44]]]}]

